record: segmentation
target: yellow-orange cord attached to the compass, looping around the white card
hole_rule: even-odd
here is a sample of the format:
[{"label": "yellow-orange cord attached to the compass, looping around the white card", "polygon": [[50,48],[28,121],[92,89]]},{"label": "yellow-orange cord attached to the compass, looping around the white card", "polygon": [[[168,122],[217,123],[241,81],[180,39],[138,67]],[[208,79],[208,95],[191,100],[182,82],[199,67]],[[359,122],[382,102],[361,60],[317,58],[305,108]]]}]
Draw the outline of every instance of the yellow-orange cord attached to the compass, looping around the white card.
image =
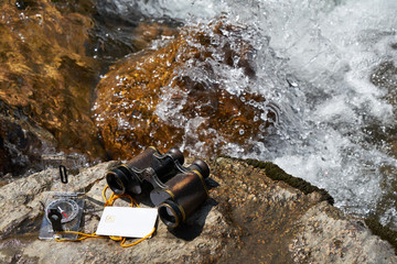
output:
[{"label": "yellow-orange cord attached to the compass, looping around the white card", "polygon": [[[105,200],[105,206],[104,206],[104,208],[107,207],[107,206],[112,206],[112,204],[115,202],[115,200],[118,199],[118,198],[129,198],[129,199],[131,200],[131,207],[133,207],[133,206],[139,207],[138,202],[135,201],[135,200],[132,199],[132,197],[129,196],[129,195],[115,195],[115,193],[112,193],[111,196],[110,196],[110,198],[107,199],[107,198],[106,198],[106,190],[107,190],[108,187],[109,187],[109,186],[107,185],[107,186],[104,188],[104,191],[103,191],[103,197],[104,197],[104,200]],[[153,228],[153,231],[151,231],[151,232],[150,232],[148,235],[146,235],[144,238],[139,239],[139,240],[137,240],[137,241],[135,241],[135,242],[132,242],[132,243],[130,243],[130,244],[125,244],[127,239],[126,239],[126,238],[122,238],[122,237],[111,237],[111,235],[109,235],[109,239],[115,240],[115,241],[121,241],[121,242],[120,242],[120,245],[121,245],[122,248],[128,248],[128,246],[136,245],[136,244],[142,242],[143,240],[150,238],[150,237],[154,233],[154,231],[155,231],[155,228]],[[82,233],[82,232],[76,232],[76,231],[61,231],[61,232],[58,232],[58,233],[56,233],[56,234],[63,234],[63,233],[74,233],[74,234],[79,234],[79,235],[82,235],[82,237],[78,238],[78,239],[75,239],[75,240],[60,239],[60,238],[55,238],[55,240],[58,241],[58,242],[63,242],[63,241],[82,241],[82,240],[85,240],[85,239],[88,239],[88,238],[107,238],[107,237],[103,237],[103,235],[97,235],[96,233],[87,234],[87,233]]]}]

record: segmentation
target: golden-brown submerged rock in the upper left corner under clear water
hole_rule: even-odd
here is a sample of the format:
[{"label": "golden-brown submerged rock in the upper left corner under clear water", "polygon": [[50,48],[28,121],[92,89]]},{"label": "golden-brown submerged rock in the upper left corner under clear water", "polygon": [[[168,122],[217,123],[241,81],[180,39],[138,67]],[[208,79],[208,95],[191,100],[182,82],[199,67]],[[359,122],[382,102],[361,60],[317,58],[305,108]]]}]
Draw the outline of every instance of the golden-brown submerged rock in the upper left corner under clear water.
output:
[{"label": "golden-brown submerged rock in the upper left corner under clear water", "polygon": [[104,156],[90,119],[97,74],[85,43],[92,26],[88,15],[61,12],[51,1],[2,1],[0,114],[47,131],[58,150]]}]

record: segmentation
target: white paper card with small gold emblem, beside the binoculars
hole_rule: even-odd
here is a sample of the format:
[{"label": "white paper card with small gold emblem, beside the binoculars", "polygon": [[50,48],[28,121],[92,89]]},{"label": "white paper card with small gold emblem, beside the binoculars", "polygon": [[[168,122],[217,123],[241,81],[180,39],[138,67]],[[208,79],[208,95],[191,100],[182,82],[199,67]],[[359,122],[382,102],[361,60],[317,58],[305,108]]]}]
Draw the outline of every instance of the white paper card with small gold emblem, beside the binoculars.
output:
[{"label": "white paper card with small gold emblem, beside the binoculars", "polygon": [[105,207],[96,234],[144,238],[153,231],[157,208]]}]

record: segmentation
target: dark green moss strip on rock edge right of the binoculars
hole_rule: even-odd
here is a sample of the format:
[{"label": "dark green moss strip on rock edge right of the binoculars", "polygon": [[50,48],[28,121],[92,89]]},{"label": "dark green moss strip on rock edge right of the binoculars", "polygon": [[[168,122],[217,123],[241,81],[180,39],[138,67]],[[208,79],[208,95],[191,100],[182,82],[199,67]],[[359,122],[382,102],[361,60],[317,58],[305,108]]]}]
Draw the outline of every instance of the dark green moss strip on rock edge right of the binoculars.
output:
[{"label": "dark green moss strip on rock edge right of the binoculars", "polygon": [[302,178],[293,177],[293,176],[287,174],[279,166],[277,166],[276,164],[273,164],[271,162],[261,162],[261,161],[251,160],[251,158],[248,158],[248,160],[235,158],[235,157],[229,157],[226,155],[221,155],[221,157],[227,157],[227,158],[232,158],[235,161],[242,161],[254,167],[262,168],[262,169],[265,169],[266,175],[273,180],[285,182],[289,186],[301,190],[305,195],[316,191],[321,195],[322,200],[326,200],[330,205],[334,204],[333,197],[325,189],[313,186]]}]

